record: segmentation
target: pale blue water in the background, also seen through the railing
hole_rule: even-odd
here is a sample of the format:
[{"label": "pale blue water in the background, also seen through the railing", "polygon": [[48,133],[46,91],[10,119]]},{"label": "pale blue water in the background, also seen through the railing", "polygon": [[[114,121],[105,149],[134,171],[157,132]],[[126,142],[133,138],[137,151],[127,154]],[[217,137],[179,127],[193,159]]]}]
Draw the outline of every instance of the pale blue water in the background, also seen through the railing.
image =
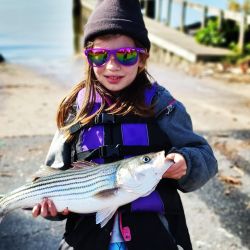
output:
[{"label": "pale blue water in the background, also seen through the railing", "polygon": [[[228,1],[192,2],[226,9]],[[72,0],[0,0],[0,54],[9,62],[37,67],[46,74],[59,74],[62,79],[76,65],[82,67],[74,64],[72,5]],[[176,8],[172,25],[178,26],[178,20]],[[187,23],[198,20],[199,13],[187,13]]]}]

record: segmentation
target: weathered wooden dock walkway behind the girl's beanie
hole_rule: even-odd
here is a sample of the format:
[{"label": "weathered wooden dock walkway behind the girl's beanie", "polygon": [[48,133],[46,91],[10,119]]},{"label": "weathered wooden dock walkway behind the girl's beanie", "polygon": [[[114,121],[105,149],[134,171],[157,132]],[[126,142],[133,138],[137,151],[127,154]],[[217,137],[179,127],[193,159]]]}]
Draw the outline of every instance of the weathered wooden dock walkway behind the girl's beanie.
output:
[{"label": "weathered wooden dock walkway behind the girl's beanie", "polygon": [[[95,6],[95,1],[81,0],[83,19],[91,13]],[[176,55],[191,63],[198,61],[216,61],[221,58],[232,55],[232,51],[224,48],[209,47],[199,44],[195,38],[177,29],[168,27],[167,25],[149,18],[144,15],[145,25],[149,32],[149,39],[152,47],[151,56],[158,58],[161,55]]]}]

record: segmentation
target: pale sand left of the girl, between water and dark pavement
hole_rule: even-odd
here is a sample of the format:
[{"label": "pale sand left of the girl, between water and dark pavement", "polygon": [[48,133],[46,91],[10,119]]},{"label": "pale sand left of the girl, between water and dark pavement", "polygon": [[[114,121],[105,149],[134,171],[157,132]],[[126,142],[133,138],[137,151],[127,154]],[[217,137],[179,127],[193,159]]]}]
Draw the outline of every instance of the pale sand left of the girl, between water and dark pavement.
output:
[{"label": "pale sand left of the girl, between water and dark pavement", "polygon": [[22,66],[0,65],[0,137],[47,135],[66,87]]}]

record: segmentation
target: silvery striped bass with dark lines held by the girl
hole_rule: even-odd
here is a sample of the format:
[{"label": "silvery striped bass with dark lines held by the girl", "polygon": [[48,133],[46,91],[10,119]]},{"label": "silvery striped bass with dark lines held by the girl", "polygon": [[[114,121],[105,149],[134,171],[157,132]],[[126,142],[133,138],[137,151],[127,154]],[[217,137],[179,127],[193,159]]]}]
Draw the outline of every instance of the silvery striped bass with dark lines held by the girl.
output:
[{"label": "silvery striped bass with dark lines held by the girl", "polygon": [[149,195],[173,164],[164,151],[135,156],[108,164],[73,164],[69,170],[29,182],[0,199],[0,221],[11,210],[32,208],[44,198],[53,200],[58,212],[96,212],[104,226],[118,207]]}]

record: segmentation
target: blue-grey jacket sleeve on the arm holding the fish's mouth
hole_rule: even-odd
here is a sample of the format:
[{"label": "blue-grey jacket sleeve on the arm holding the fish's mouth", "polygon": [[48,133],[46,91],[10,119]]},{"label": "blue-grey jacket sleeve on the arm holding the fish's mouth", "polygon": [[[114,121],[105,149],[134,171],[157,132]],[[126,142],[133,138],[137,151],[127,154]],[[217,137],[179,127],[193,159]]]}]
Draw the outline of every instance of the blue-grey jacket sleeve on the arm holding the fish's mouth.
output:
[{"label": "blue-grey jacket sleeve on the arm holding the fish's mouth", "polygon": [[196,190],[217,173],[217,160],[205,138],[193,131],[191,118],[182,103],[175,101],[169,112],[166,107],[173,97],[160,86],[156,100],[156,113],[160,114],[158,125],[172,146],[168,153],[182,154],[187,163],[187,173],[177,181],[178,188],[183,192]]}]

